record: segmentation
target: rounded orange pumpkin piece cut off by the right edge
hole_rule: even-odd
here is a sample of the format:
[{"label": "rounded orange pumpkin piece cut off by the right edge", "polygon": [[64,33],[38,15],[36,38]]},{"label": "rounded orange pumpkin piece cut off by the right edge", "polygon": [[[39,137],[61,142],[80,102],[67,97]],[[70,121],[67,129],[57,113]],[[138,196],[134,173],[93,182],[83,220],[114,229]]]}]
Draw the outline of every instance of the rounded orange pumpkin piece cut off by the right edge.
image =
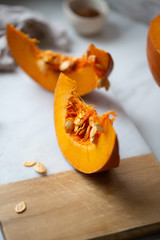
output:
[{"label": "rounded orange pumpkin piece cut off by the right edge", "polygon": [[151,73],[160,86],[160,15],[154,18],[149,26],[147,58]]}]

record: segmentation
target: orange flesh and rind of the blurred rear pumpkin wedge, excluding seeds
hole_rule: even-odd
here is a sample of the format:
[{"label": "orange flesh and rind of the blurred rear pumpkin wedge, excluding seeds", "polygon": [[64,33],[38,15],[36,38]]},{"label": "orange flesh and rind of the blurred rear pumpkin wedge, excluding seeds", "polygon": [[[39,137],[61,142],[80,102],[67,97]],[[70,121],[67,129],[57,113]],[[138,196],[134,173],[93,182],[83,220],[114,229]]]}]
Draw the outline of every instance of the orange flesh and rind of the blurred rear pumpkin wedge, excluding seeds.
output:
[{"label": "orange flesh and rind of the blurred rear pumpkin wedge, excluding seeds", "polygon": [[[54,92],[56,83],[60,74],[60,70],[54,69],[52,65],[45,65],[47,70],[42,71],[37,62],[39,56],[45,56],[46,51],[42,51],[35,45],[38,41],[30,39],[26,34],[15,29],[12,25],[7,25],[7,41],[12,56],[17,64],[37,83],[45,89]],[[54,53],[51,50],[48,50]],[[113,60],[109,53],[97,49],[93,44],[90,44],[88,53],[93,54],[98,59],[98,63],[103,69],[98,69],[95,64],[86,58],[84,54],[78,59],[76,68],[71,71],[66,71],[65,75],[77,81],[77,89],[80,95],[87,94],[97,87],[99,79],[103,76],[109,76],[113,68]],[[58,56],[62,54],[56,53]],[[68,57],[70,60],[71,57]]]}]

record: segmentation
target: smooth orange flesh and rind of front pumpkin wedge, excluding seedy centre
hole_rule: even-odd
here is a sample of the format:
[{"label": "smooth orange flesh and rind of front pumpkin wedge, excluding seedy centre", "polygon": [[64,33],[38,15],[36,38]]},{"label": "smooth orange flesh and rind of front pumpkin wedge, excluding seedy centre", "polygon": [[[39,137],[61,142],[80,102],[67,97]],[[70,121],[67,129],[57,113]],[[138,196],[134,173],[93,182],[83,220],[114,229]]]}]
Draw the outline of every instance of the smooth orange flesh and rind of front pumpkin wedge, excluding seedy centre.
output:
[{"label": "smooth orange flesh and rind of front pumpkin wedge, excluding seedy centre", "polygon": [[[67,104],[69,99],[74,99],[73,92],[76,91],[76,81],[61,73],[54,96],[54,122],[57,141],[64,157],[74,168],[87,174],[118,167],[118,140],[109,117],[107,119],[99,117],[104,131],[100,134],[96,144],[91,143],[89,139],[83,141],[82,138],[79,141],[77,136],[65,131]],[[79,101],[82,103],[80,99]]]}]

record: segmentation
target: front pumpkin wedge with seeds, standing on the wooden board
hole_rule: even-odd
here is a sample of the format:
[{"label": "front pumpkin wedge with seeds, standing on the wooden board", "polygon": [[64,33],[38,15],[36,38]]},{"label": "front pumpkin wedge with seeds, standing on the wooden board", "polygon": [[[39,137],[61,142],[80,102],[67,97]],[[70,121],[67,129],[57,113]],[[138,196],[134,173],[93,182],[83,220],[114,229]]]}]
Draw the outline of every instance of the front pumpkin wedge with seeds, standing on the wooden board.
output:
[{"label": "front pumpkin wedge with seeds, standing on the wooden board", "polygon": [[112,126],[116,116],[114,111],[99,116],[79,97],[76,81],[60,74],[54,96],[55,130],[59,147],[74,168],[89,174],[119,165]]}]

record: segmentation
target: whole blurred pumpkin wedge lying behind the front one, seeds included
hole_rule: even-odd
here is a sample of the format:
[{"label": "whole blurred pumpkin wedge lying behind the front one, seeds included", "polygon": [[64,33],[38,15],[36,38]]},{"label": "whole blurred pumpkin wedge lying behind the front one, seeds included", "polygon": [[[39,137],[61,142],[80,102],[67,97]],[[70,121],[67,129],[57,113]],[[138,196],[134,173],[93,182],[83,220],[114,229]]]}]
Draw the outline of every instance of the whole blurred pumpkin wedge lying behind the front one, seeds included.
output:
[{"label": "whole blurred pumpkin wedge lying behind the front one, seeds included", "polygon": [[38,40],[7,25],[7,41],[17,64],[37,83],[54,92],[60,72],[77,82],[80,95],[91,92],[95,87],[109,88],[108,76],[113,68],[109,53],[90,44],[81,58],[65,56],[51,50],[42,51]]}]

